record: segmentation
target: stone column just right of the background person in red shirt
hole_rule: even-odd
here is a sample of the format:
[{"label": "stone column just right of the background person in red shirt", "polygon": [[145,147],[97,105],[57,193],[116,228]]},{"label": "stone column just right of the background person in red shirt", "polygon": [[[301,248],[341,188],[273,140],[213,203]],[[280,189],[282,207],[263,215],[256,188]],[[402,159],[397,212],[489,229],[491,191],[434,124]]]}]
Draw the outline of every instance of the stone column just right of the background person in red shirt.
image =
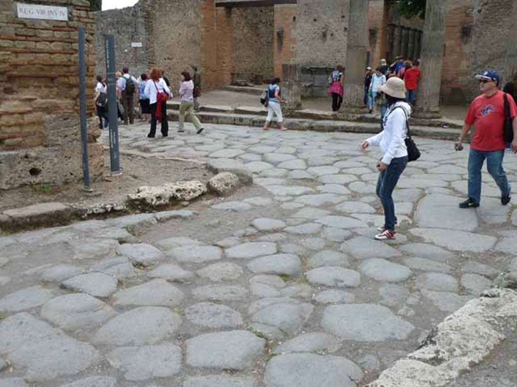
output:
[{"label": "stone column just right of the background person in red shirt", "polygon": [[422,38],[421,79],[415,116],[440,116],[440,85],[445,42],[446,0],[427,0]]}]

